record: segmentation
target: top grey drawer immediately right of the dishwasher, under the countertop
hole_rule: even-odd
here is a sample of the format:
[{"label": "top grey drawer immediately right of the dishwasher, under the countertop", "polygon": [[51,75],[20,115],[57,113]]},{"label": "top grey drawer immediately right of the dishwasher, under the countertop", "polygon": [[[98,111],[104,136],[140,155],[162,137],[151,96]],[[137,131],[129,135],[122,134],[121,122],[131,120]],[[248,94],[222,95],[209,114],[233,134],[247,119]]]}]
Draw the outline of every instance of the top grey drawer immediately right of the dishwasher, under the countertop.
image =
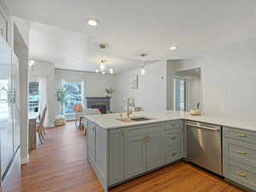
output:
[{"label": "top grey drawer immediately right of the dishwasher, under the countertop", "polygon": [[243,142],[256,144],[256,132],[253,131],[244,131],[229,127],[223,127],[223,137],[230,137],[241,140]]}]

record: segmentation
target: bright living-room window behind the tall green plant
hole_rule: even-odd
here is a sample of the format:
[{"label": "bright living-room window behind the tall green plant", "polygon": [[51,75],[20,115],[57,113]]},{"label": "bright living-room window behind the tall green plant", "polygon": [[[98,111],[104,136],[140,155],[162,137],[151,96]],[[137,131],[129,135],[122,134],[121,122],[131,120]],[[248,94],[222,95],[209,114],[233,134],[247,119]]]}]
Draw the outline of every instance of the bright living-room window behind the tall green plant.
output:
[{"label": "bright living-room window behind the tall green plant", "polygon": [[82,83],[65,82],[64,88],[67,90],[66,102],[64,103],[64,113],[74,113],[74,104],[82,104]]}]

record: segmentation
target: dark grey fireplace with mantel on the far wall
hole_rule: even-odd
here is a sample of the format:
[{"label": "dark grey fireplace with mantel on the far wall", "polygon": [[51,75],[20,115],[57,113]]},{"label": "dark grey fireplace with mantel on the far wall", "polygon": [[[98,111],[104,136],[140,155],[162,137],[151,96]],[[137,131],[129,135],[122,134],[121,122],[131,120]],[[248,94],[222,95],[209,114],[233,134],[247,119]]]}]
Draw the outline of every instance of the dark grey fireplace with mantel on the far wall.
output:
[{"label": "dark grey fireplace with mantel on the far wall", "polygon": [[86,97],[87,108],[98,108],[101,113],[110,113],[110,97]]}]

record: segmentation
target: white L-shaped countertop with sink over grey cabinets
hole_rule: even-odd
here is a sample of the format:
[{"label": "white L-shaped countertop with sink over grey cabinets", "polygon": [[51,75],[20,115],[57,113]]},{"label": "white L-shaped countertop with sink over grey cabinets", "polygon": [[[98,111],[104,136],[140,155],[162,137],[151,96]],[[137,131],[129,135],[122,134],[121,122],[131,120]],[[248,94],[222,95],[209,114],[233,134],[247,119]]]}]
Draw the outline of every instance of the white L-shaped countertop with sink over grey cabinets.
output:
[{"label": "white L-shaped countertop with sink over grey cabinets", "polygon": [[122,122],[117,120],[120,118],[120,113],[108,113],[108,114],[95,114],[95,115],[86,115],[86,119],[92,120],[97,125],[101,126],[104,129],[116,129],[120,127],[128,127],[128,126],[135,126],[135,125],[146,125],[152,123],[159,123],[169,120],[175,119],[187,119],[187,120],[194,120],[214,125],[223,125],[229,126],[232,128],[237,128],[241,130],[247,131],[256,131],[256,121],[250,122],[247,120],[241,119],[227,119],[227,118],[220,118],[220,117],[213,117],[213,116],[192,116],[188,112],[180,112],[180,111],[163,111],[158,113],[149,113],[149,112],[136,112],[133,113],[131,116],[146,116],[151,117],[153,119],[146,120],[146,121],[134,121],[134,122]]}]

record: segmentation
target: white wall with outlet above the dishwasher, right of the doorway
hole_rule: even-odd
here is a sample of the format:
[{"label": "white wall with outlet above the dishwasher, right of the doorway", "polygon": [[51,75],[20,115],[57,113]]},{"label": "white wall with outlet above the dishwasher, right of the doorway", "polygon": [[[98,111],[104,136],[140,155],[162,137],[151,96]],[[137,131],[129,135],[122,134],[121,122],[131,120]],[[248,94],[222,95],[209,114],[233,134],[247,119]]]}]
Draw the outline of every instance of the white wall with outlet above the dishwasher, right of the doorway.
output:
[{"label": "white wall with outlet above the dishwasher, right of the doorway", "polygon": [[[207,55],[179,61],[176,70],[201,67],[205,114],[240,119],[256,118],[256,39]],[[225,110],[220,110],[220,105]]]}]

